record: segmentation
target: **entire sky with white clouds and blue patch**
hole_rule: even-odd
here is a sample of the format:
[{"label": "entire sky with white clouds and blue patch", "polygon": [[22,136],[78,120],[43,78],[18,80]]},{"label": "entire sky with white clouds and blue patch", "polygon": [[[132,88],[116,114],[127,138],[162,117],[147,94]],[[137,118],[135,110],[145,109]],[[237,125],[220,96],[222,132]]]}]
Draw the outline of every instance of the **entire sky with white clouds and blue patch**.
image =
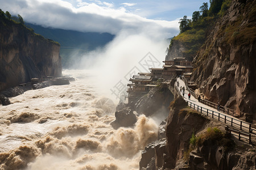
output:
[{"label": "entire sky with white clouds and blue patch", "polygon": [[0,8],[45,27],[113,35],[144,32],[168,38],[179,33],[179,19],[191,17],[203,2],[207,1],[0,0]]}]

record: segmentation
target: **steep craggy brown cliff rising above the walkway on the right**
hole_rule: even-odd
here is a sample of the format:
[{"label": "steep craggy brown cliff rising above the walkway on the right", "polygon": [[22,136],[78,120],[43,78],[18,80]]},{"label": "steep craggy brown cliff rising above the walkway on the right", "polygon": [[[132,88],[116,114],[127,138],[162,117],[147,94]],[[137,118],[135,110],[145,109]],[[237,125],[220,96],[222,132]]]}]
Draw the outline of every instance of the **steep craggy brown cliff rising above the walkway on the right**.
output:
[{"label": "steep craggy brown cliff rising above the walkway on the right", "polygon": [[192,79],[209,100],[256,118],[256,1],[236,0],[194,59]]}]

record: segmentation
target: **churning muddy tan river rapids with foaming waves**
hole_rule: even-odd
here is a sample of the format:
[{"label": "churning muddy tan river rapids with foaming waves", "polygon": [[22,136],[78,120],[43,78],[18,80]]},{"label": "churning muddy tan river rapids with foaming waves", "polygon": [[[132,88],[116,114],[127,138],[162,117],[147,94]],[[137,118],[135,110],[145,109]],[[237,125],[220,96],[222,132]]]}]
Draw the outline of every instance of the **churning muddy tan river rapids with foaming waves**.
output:
[{"label": "churning muddy tan river rapids with foaming waves", "polygon": [[114,130],[113,105],[98,105],[108,96],[94,76],[64,74],[76,81],[27,91],[0,106],[0,169],[138,169],[141,150],[156,139],[155,122],[140,116],[134,128]]}]

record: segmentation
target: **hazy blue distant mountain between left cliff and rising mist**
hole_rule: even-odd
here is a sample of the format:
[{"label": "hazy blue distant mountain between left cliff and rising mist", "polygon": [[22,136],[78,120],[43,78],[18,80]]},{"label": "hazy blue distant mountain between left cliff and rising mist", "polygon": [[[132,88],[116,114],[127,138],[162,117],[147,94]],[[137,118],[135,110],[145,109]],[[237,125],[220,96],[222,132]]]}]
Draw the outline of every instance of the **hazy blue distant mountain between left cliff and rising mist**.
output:
[{"label": "hazy blue distant mountain between left cliff and rising mist", "polygon": [[[103,47],[114,39],[114,35],[111,35],[110,33],[78,32],[65,29],[46,28],[31,23],[26,23],[26,26],[34,29],[35,33],[38,33],[47,39],[59,42],[60,56],[62,57],[64,68],[72,67],[73,63],[80,59],[82,54]],[[76,56],[72,56],[74,53],[76,53]]]}]

